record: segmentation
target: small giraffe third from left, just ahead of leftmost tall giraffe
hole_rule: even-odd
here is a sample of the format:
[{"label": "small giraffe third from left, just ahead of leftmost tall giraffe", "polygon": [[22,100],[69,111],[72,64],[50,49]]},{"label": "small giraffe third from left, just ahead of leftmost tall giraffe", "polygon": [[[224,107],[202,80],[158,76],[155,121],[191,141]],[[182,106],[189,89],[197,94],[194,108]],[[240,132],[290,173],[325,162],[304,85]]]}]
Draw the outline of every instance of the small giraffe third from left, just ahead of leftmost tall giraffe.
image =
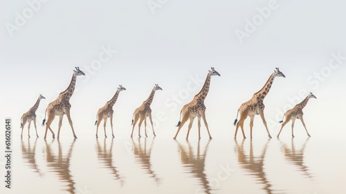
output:
[{"label": "small giraffe third from left, just ahead of leftmost tall giraffe", "polygon": [[[107,123],[107,118],[109,117],[109,119],[111,120],[111,135],[114,138],[114,134],[113,134],[113,105],[116,103],[116,100],[118,99],[119,93],[120,91],[126,90],[125,87],[122,87],[122,85],[119,85],[118,90],[116,91],[116,94],[114,94],[113,98],[111,98],[111,100],[109,100],[106,105],[104,105],[103,107],[101,107],[100,109],[98,109],[98,114],[96,114],[96,121],[95,121],[95,125],[97,124],[98,126],[100,125],[102,119],[104,120],[104,137],[107,138],[107,134],[106,134],[106,123]],[[100,122],[98,122],[100,121]],[[98,138],[98,126],[96,128],[96,138]]]}]

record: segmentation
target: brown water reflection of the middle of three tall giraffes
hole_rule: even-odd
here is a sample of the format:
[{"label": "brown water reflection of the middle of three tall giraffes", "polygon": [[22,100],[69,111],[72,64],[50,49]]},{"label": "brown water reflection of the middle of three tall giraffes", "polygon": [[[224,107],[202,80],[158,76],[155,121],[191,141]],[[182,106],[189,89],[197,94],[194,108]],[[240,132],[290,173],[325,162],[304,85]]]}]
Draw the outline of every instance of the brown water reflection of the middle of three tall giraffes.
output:
[{"label": "brown water reflection of the middle of three tall giraffes", "polygon": [[200,141],[198,141],[197,154],[195,154],[194,148],[190,141],[186,140],[186,142],[188,143],[188,149],[185,148],[182,143],[176,141],[179,146],[181,164],[183,164],[185,168],[188,168],[189,173],[199,180],[199,184],[203,186],[204,192],[209,194],[211,193],[212,188],[210,187],[210,182],[208,182],[206,173],[204,173],[204,168],[206,166],[206,155],[208,152],[210,139],[208,140],[203,152],[201,152],[201,144]]}]

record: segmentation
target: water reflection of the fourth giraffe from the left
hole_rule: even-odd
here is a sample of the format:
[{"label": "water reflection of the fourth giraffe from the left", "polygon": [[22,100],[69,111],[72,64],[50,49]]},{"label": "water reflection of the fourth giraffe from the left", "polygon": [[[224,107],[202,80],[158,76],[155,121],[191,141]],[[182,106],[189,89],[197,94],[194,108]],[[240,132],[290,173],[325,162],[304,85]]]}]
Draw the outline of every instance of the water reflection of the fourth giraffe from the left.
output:
[{"label": "water reflection of the fourth giraffe from the left", "polygon": [[147,174],[155,180],[156,184],[159,185],[161,179],[158,178],[154,170],[152,170],[152,163],[150,162],[154,139],[155,138],[152,139],[149,148],[147,148],[147,137],[144,138],[144,148],[142,143],[140,143],[140,138],[138,138],[138,143],[135,143],[134,139],[132,139],[132,143],[134,144],[134,157],[136,158],[136,162],[140,164],[142,168],[147,171]]}]

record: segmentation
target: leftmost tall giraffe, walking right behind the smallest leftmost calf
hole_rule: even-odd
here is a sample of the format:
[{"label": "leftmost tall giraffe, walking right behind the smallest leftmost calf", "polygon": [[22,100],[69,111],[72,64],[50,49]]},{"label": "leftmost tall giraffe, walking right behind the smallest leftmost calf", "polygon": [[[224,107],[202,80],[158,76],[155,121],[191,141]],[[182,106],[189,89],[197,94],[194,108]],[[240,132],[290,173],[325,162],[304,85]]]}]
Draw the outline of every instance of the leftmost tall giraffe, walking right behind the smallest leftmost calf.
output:
[{"label": "leftmost tall giraffe, walking right behind the smallest leftmost calf", "polygon": [[69,87],[67,87],[67,89],[65,89],[64,91],[62,91],[59,96],[57,96],[57,99],[54,100],[53,102],[48,104],[48,107],[46,108],[46,113],[44,114],[44,121],[42,122],[42,125],[44,125],[44,123],[46,122],[46,114],[48,112],[48,118],[47,118],[47,123],[46,123],[46,132],[44,134],[44,138],[46,138],[47,136],[47,131],[48,129],[51,131],[51,133],[53,134],[53,138],[55,138],[55,134],[51,128],[51,123],[53,122],[55,116],[59,116],[60,120],[59,120],[59,127],[57,130],[57,138],[59,139],[60,136],[60,128],[62,127],[62,118],[64,116],[64,114],[66,114],[67,119],[69,119],[69,123],[73,132],[73,136],[75,138],[77,138],[77,136],[75,135],[75,130],[73,130],[73,123],[71,120],[71,115],[70,115],[70,109],[71,109],[71,104],[69,102],[73,91],[75,90],[75,82],[77,80],[77,76],[85,76],[85,74],[83,73],[83,71],[80,71],[79,67],[75,67],[75,70],[73,70],[73,76],[70,82]]}]

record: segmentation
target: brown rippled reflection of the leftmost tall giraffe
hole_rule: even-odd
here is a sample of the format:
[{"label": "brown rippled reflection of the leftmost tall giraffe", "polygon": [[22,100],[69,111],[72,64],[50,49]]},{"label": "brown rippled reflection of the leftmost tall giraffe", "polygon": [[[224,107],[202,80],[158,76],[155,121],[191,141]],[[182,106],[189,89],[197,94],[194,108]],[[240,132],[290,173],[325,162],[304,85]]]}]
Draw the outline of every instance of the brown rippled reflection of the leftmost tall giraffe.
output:
[{"label": "brown rippled reflection of the leftmost tall giraffe", "polygon": [[55,139],[53,139],[51,143],[47,143],[46,139],[44,141],[46,143],[46,163],[48,168],[51,168],[51,172],[57,173],[60,182],[67,183],[67,188],[64,191],[68,191],[69,193],[74,194],[75,181],[73,180],[73,177],[71,175],[70,162],[75,139],[71,143],[67,154],[62,153],[62,145],[60,143],[60,140],[57,139],[57,155],[53,153],[51,148]]}]

